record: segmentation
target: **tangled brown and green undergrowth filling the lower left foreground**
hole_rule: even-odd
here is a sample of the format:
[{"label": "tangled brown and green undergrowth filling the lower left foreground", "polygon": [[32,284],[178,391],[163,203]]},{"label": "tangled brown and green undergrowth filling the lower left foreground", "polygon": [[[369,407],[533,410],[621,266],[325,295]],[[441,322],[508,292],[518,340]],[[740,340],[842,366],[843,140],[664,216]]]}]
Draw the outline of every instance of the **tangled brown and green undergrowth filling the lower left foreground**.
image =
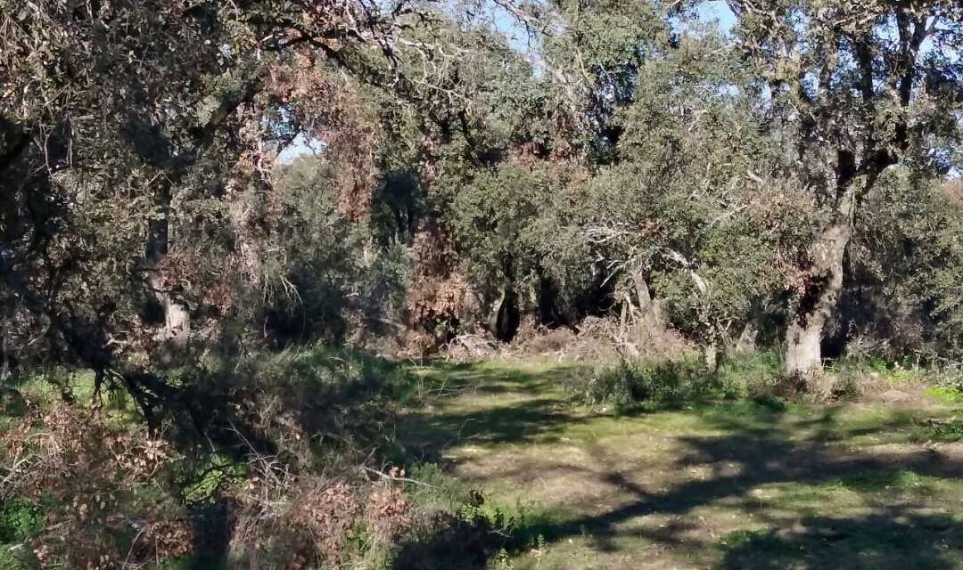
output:
[{"label": "tangled brown and green undergrowth filling the lower left foreground", "polygon": [[166,378],[207,431],[171,415],[150,432],[84,371],[19,383],[0,409],[0,567],[404,567],[404,545],[452,529],[510,534],[431,466],[405,473],[392,426],[420,390],[399,363],[318,346]]}]

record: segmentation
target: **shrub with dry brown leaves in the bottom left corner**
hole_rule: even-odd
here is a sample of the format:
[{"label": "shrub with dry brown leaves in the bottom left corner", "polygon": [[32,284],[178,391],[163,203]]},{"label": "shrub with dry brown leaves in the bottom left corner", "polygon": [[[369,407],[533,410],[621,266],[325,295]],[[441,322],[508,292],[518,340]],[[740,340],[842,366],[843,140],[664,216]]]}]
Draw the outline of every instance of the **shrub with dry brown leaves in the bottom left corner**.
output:
[{"label": "shrub with dry brown leaves in the bottom left corner", "polygon": [[187,512],[163,484],[178,457],[146,430],[58,404],[2,434],[0,450],[12,471],[0,493],[17,497],[3,508],[4,538],[44,567],[126,568],[190,549]]}]

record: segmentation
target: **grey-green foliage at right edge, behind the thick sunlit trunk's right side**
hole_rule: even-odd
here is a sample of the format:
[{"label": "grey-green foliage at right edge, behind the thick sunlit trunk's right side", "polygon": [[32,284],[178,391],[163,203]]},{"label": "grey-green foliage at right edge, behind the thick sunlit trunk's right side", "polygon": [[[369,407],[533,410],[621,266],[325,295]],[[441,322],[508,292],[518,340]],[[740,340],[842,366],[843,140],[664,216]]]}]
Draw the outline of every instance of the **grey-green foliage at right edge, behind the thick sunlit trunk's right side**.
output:
[{"label": "grey-green foliage at right edge, behind the thick sunlit trunk's right side", "polygon": [[862,343],[850,342],[848,352],[923,361],[963,354],[963,202],[953,188],[897,171],[868,197],[842,313]]}]

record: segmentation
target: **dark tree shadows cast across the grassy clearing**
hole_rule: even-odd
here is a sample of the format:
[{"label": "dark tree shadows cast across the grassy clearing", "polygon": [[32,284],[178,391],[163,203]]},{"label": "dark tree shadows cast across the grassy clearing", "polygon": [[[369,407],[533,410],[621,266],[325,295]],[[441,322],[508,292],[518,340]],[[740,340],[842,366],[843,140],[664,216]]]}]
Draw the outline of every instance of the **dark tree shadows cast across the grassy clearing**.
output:
[{"label": "dark tree shadows cast across the grassy clearing", "polygon": [[[506,395],[517,399],[473,409],[471,406],[440,405],[420,410],[408,417],[408,436],[412,445],[421,445],[444,455],[448,446],[465,444],[551,443],[573,424],[597,419],[579,413],[558,392],[560,375],[571,370],[543,373],[490,371],[473,366],[454,367],[454,380],[464,394]],[[444,373],[445,371],[443,371]],[[550,394],[545,396],[545,394]],[[867,448],[849,450],[841,440],[854,434],[904,430],[913,424],[905,414],[892,421],[880,420],[872,427],[846,427],[839,408],[821,409],[805,416],[788,414],[766,406],[716,404],[692,409],[705,423],[703,434],[679,434],[674,441],[684,453],[672,459],[680,473],[698,467],[707,476],[699,480],[678,481],[647,488],[637,481],[632,470],[644,469],[618,465],[605,453],[590,446],[588,464],[564,461],[544,462],[537,469],[545,472],[577,473],[586,483],[619,489],[624,501],[604,512],[568,516],[562,520],[538,519],[512,528],[521,537],[538,536],[549,543],[570,537],[590,537],[591,548],[611,553],[624,546],[619,538],[628,533],[666,548],[693,546],[713,553],[718,569],[776,568],[921,568],[950,570],[963,568],[963,525],[951,513],[933,512],[907,500],[883,498],[872,494],[898,485],[902,474],[914,477],[958,481],[963,477],[959,455],[948,455],[933,447],[909,449]],[[801,435],[800,434],[804,434]],[[640,437],[638,441],[644,442]],[[418,442],[418,443],[415,443]],[[433,447],[432,447],[433,446]],[[520,465],[519,470],[533,468]],[[503,477],[517,473],[500,472]],[[752,494],[762,485],[796,483],[824,485],[848,482],[847,488],[865,494],[866,508],[838,515],[826,512],[794,512],[792,508],[773,508]],[[665,482],[664,482],[665,483]],[[808,488],[808,487],[807,487]],[[752,513],[763,530],[739,531],[723,537],[705,536],[693,545],[692,529],[697,526],[692,511],[725,503]],[[589,509],[586,509],[588,512]],[[638,528],[631,523],[646,516],[668,516],[673,521],[658,529]],[[626,528],[630,527],[630,528]],[[699,536],[696,534],[696,536]],[[492,536],[509,546],[504,536]],[[698,542],[700,538],[696,537]],[[524,544],[525,539],[516,541]],[[447,547],[451,544],[448,543]],[[426,548],[426,545],[422,545]],[[495,549],[493,549],[495,550]],[[430,551],[430,545],[427,550]],[[484,551],[484,549],[481,549]],[[517,551],[516,551],[517,552]],[[401,568],[435,568],[430,558],[411,562]],[[468,563],[466,558],[465,563]],[[481,568],[484,560],[474,560],[465,568]],[[568,566],[565,566],[568,567]]]}]

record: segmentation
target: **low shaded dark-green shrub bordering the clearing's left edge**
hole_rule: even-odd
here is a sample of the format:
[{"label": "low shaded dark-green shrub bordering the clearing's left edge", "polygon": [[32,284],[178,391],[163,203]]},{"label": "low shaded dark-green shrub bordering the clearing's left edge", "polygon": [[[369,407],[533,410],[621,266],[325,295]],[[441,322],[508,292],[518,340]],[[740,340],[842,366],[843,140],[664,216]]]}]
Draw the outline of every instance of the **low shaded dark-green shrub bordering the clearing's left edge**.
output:
[{"label": "low shaded dark-green shrub bordering the clearing's left edge", "polygon": [[[208,432],[223,435],[233,457],[250,451],[248,442],[238,441],[235,428],[243,428],[258,452],[307,469],[359,461],[376,447],[390,447],[383,427],[415,392],[402,365],[323,344],[211,359],[178,369],[171,380],[189,386],[195,402],[203,403]],[[181,443],[197,435],[183,423],[172,423],[169,431]]]}]

